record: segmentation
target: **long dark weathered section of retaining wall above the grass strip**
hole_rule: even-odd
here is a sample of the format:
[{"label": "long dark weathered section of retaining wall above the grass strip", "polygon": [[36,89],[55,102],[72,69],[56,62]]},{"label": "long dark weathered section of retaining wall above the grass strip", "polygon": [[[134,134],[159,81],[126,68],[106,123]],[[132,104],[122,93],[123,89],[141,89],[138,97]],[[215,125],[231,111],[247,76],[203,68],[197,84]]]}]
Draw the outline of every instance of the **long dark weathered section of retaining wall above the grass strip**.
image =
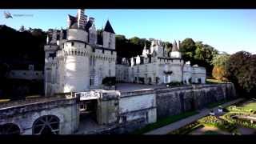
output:
[{"label": "long dark weathered section of retaining wall above the grass strip", "polygon": [[193,85],[156,90],[158,118],[205,108],[213,102],[235,98],[231,83]]}]

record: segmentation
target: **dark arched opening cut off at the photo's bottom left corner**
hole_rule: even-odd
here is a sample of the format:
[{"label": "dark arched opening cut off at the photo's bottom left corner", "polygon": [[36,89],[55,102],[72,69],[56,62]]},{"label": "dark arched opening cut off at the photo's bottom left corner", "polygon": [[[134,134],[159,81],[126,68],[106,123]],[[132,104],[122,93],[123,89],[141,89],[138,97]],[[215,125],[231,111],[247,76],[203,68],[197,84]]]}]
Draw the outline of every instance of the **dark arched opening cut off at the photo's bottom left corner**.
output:
[{"label": "dark arched opening cut off at the photo's bottom left corner", "polygon": [[20,134],[19,127],[13,123],[0,125],[0,134]]}]

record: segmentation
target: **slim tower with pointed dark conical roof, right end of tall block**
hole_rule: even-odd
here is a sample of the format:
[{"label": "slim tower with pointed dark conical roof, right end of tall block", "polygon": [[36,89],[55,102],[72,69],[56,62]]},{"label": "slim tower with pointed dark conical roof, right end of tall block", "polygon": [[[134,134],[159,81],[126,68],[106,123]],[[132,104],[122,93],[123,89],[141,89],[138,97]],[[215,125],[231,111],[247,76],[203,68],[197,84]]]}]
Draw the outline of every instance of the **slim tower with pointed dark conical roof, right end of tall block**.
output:
[{"label": "slim tower with pointed dark conical roof, right end of tall block", "polygon": [[115,50],[115,33],[109,20],[103,30],[103,47]]}]

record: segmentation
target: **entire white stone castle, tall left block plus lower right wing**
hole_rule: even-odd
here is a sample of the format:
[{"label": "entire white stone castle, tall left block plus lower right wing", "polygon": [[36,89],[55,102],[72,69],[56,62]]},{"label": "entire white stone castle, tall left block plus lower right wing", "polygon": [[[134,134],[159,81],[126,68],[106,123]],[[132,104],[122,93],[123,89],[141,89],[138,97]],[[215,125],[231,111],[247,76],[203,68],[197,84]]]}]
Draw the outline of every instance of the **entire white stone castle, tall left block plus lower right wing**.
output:
[{"label": "entire white stone castle, tall left block plus lower right wing", "polygon": [[95,28],[94,18],[78,10],[68,15],[66,30],[51,30],[45,45],[45,94],[79,92],[102,87],[102,80],[115,77],[118,82],[162,84],[169,82],[202,82],[203,67],[184,63],[176,42],[170,53],[159,40],[151,39],[150,50],[141,56],[122,58],[116,64],[115,34],[110,22],[102,32]]}]

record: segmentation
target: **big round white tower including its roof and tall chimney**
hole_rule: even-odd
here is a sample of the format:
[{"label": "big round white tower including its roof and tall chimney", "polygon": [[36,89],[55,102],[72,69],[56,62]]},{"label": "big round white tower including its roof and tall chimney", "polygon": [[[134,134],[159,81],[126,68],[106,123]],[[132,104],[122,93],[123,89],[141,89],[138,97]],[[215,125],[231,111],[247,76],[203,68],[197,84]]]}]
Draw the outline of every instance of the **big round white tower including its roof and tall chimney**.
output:
[{"label": "big round white tower including its roof and tall chimney", "polygon": [[90,51],[87,45],[88,33],[85,28],[84,10],[78,10],[77,21],[72,19],[67,38],[64,42],[63,51],[65,61],[63,61],[62,72],[59,76],[62,79],[60,92],[78,92],[90,88]]}]

